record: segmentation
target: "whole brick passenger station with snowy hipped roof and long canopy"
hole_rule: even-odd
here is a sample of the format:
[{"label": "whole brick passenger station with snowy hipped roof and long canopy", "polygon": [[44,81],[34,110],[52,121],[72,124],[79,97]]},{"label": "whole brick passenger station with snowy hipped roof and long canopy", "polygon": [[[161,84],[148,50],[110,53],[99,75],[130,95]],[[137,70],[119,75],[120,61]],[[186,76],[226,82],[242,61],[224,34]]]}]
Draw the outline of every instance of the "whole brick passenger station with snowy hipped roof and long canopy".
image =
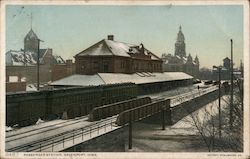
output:
[{"label": "whole brick passenger station with snowy hipped roof and long canopy", "polygon": [[133,45],[108,35],[75,55],[76,74],[52,82],[54,88],[135,83],[139,94],[147,94],[192,84],[183,72],[163,72],[162,60],[143,44]]}]

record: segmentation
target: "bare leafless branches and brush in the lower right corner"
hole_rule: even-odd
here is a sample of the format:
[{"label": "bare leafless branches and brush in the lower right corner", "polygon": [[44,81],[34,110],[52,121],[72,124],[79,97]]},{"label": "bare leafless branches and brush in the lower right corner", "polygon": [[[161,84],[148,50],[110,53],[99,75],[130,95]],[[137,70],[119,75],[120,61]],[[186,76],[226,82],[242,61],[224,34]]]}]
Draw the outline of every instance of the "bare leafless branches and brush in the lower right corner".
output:
[{"label": "bare leafless branches and brush in the lower right corner", "polygon": [[[219,117],[218,102],[215,100],[209,106],[201,108],[199,111],[192,112],[190,108],[181,107],[183,112],[187,112],[191,117],[191,121],[186,121],[197,130],[202,141],[205,143],[209,152],[211,151],[243,151],[243,98],[240,93],[241,89],[234,89],[234,123],[230,129],[229,121],[229,98],[224,95],[222,101],[225,103],[221,113],[222,137],[219,137]],[[195,98],[195,95],[193,96]],[[180,99],[179,102],[183,102]],[[197,105],[196,100],[192,100],[192,105]]]}]

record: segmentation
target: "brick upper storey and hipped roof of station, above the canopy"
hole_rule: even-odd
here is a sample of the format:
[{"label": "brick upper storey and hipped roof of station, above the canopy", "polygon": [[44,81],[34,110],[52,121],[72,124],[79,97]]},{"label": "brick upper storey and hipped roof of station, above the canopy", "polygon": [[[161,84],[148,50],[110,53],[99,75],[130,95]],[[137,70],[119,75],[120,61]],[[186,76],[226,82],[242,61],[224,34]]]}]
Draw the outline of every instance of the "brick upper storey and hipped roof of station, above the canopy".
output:
[{"label": "brick upper storey and hipped roof of station, above the canopy", "polygon": [[75,55],[77,74],[162,72],[162,60],[143,44],[114,40],[113,35]]}]

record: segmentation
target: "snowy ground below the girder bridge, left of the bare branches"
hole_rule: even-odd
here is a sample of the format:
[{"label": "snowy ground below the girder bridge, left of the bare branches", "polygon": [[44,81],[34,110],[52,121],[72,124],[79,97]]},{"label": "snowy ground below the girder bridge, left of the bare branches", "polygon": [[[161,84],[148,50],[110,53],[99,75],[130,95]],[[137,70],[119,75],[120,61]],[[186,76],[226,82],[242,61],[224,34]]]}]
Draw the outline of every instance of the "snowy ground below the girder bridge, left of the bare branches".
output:
[{"label": "snowy ground below the girder bridge, left of the bare branches", "polygon": [[[222,98],[226,99],[226,96]],[[161,125],[137,122],[133,125],[133,148],[132,152],[207,152],[194,120],[206,123],[211,116],[206,115],[218,113],[218,100],[212,101],[201,109],[188,115],[172,126],[162,130]],[[221,100],[221,108],[225,109],[226,102]],[[205,111],[206,110],[206,111]],[[207,116],[207,117],[205,117]],[[161,121],[159,121],[161,122]],[[128,146],[126,145],[126,148]]]}]

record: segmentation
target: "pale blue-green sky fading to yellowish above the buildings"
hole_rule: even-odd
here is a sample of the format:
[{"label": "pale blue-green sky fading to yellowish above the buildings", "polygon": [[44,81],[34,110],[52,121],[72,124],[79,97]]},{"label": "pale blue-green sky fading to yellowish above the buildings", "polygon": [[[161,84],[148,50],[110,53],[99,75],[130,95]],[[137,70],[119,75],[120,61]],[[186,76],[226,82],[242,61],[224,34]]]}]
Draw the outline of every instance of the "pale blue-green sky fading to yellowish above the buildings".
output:
[{"label": "pale blue-green sky fading to yellowish above the buildings", "polygon": [[201,67],[222,64],[230,58],[234,40],[234,61],[243,58],[243,6],[56,6],[8,5],[6,7],[6,50],[20,50],[31,28],[44,40],[41,48],[71,58],[113,34],[115,40],[143,43],[161,56],[174,54],[179,26],[185,36],[186,52],[200,59]]}]

